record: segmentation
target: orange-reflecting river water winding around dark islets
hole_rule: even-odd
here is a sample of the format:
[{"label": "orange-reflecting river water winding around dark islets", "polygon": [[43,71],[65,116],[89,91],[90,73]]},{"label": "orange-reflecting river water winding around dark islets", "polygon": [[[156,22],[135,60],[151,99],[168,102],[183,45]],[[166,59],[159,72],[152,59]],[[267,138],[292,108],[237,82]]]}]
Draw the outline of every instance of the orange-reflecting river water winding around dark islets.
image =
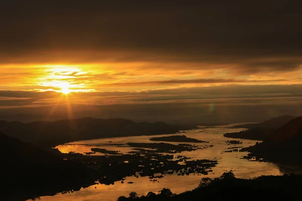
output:
[{"label": "orange-reflecting river water winding around dark islets", "polygon": [[[230,125],[229,125],[230,126]],[[247,152],[224,152],[230,147],[248,147],[254,145],[258,141],[230,139],[223,137],[224,133],[239,132],[242,129],[233,129],[226,126],[217,126],[212,128],[200,128],[196,130],[187,131],[187,133],[180,133],[179,135],[186,135],[190,138],[208,141],[209,143],[198,143],[198,145],[213,145],[206,149],[198,149],[191,152],[182,152],[177,155],[193,157],[193,159],[215,159],[218,160],[216,167],[212,168],[212,172],[208,175],[185,175],[178,176],[177,174],[165,175],[164,178],[158,179],[159,182],[150,182],[148,177],[134,176],[126,177],[124,183],[117,181],[114,185],[96,184],[88,188],[82,188],[80,191],[73,193],[58,193],[54,196],[40,197],[42,201],[92,201],[92,200],[117,200],[119,196],[128,195],[129,192],[135,191],[138,195],[146,194],[149,191],[158,192],[162,188],[170,188],[174,193],[184,192],[191,190],[198,186],[202,177],[219,177],[223,172],[232,170],[236,177],[239,178],[252,178],[261,175],[282,175],[282,170],[276,164],[248,161],[241,159],[242,156],[247,155]],[[149,141],[150,138],[157,136],[134,136],[134,137],[121,137],[121,138],[104,138],[95,140],[86,140],[72,142],[65,145],[57,146],[61,152],[68,153],[70,151],[84,153],[90,152],[91,148],[104,148],[107,150],[120,151],[127,153],[131,150],[130,147],[120,147],[117,144],[125,144],[128,142],[153,142]],[[238,145],[228,145],[227,140],[241,140],[243,143]],[[167,142],[171,144],[179,144]],[[190,143],[196,144],[196,143]],[[102,154],[99,154],[102,155]],[[129,184],[127,182],[134,182]]]}]

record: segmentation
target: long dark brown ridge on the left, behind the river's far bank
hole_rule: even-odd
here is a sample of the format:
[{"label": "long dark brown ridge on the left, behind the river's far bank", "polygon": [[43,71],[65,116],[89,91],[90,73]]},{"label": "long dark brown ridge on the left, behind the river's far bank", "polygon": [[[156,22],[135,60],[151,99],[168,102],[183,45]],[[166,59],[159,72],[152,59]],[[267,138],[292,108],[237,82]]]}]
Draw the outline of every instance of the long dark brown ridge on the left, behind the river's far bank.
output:
[{"label": "long dark brown ridge on the left, behind the river's far bank", "polygon": [[174,134],[196,128],[196,125],[191,124],[136,123],[127,119],[82,118],[32,123],[0,121],[0,132],[43,148],[80,140]]}]

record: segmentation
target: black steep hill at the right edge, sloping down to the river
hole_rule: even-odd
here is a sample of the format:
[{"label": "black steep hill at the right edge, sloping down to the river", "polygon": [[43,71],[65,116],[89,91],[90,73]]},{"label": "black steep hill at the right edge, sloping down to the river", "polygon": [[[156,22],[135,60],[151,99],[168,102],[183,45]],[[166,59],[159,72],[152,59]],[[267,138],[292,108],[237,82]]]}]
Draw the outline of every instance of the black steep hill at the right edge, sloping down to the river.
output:
[{"label": "black steep hill at the right edge, sloping down to the river", "polygon": [[248,159],[302,166],[302,117],[295,118],[277,129],[262,143],[243,148]]}]

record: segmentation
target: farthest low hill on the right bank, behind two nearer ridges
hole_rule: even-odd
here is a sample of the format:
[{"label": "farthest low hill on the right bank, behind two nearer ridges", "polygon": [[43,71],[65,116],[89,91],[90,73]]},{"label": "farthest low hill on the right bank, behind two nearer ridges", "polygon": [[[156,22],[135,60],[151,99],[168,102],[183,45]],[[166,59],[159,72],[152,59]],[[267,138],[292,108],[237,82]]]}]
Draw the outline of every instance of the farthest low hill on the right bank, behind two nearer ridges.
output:
[{"label": "farthest low hill on the right bank, behind two nearer ridges", "polygon": [[244,125],[236,125],[233,128],[245,128],[245,129],[254,129],[254,128],[265,128],[265,129],[277,129],[289,121],[293,120],[295,117],[290,115],[283,115],[280,117],[276,117],[270,120],[267,120],[258,124],[244,124]]}]

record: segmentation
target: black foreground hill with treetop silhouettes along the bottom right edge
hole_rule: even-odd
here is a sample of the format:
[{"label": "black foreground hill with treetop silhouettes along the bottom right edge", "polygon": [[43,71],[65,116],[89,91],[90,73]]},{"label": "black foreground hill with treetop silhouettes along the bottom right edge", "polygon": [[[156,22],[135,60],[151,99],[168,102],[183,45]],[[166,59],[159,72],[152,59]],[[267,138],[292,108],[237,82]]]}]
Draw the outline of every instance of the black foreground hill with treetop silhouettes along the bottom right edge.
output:
[{"label": "black foreground hill with treetop silhouettes along the bottom right edge", "polygon": [[[118,201],[126,200],[301,200],[299,183],[302,176],[260,176],[254,179],[236,178],[233,172],[223,173],[220,178],[203,178],[200,185],[190,191],[173,194],[164,188],[159,193],[148,192],[138,197],[131,192],[129,197],[121,196]],[[100,199],[101,200],[101,199]]]}]

